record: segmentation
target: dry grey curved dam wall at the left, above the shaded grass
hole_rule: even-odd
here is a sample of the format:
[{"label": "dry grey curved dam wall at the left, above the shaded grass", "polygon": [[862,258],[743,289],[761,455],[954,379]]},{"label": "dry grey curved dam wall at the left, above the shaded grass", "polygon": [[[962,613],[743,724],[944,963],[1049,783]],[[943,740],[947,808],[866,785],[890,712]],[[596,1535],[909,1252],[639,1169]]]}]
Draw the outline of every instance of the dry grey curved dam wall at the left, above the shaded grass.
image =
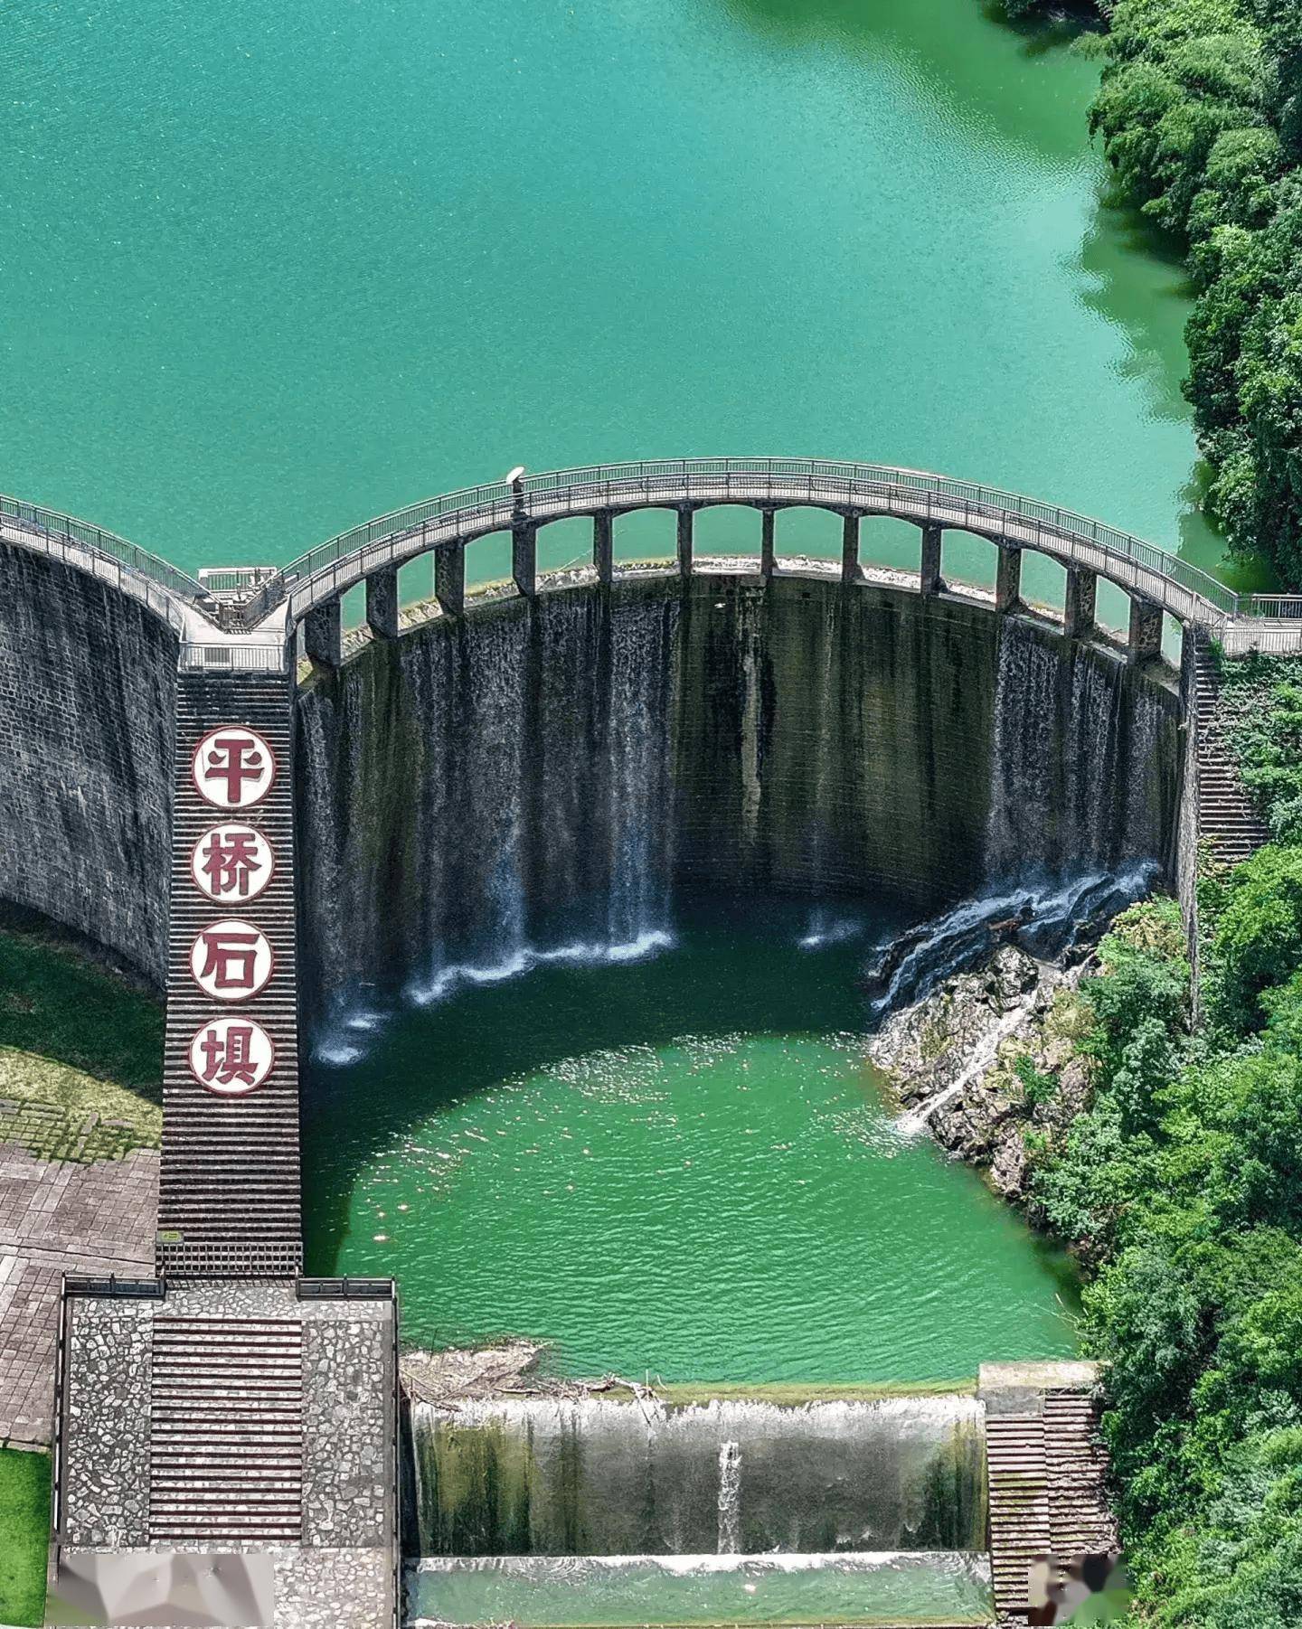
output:
[{"label": "dry grey curved dam wall at the left, above the shaded grass", "polygon": [[0,542],[0,899],[166,979],[178,639]]}]

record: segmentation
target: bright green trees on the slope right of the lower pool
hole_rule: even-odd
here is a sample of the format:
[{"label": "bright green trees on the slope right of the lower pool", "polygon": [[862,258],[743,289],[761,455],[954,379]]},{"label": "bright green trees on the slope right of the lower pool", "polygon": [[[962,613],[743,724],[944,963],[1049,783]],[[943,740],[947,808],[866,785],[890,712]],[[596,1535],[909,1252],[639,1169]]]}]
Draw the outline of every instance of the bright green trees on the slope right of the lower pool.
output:
[{"label": "bright green trees on the slope right of the lower pool", "polygon": [[1302,1622],[1297,678],[1271,658],[1224,666],[1274,841],[1229,872],[1204,857],[1198,1021],[1178,906],[1131,907],[1082,984],[1093,1103],[1056,1140],[1027,1135],[1035,1218],[1087,1267],[1146,1624]]}]

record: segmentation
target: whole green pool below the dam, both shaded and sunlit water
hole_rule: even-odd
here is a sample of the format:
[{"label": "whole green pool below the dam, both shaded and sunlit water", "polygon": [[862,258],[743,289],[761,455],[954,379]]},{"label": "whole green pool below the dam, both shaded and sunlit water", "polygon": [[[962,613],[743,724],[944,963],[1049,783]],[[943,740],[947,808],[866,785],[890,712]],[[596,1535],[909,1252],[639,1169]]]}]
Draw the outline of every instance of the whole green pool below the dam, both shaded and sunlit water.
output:
[{"label": "whole green pool below the dam, both shaded and sunlit water", "polygon": [[411,1344],[533,1336],[569,1375],[1071,1354],[1066,1262],[903,1137],[865,1062],[856,979],[890,925],[831,912],[800,948],[805,907],[712,906],[649,959],[543,963],[354,1030],[303,1095],[310,1271],[393,1274]]}]

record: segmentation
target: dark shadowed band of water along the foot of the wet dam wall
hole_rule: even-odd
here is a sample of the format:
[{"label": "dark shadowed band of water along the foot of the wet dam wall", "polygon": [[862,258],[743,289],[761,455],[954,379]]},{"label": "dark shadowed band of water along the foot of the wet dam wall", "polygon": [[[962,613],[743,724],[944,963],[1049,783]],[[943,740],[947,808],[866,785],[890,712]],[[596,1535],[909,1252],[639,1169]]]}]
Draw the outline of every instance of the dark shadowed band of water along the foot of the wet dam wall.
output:
[{"label": "dark shadowed band of water along the foot of the wet dam wall", "polygon": [[[303,1192],[311,1194],[311,1271],[332,1271],[354,1183],[420,1121],[505,1082],[585,1054],[655,1049],[683,1036],[823,1036],[867,1026],[856,990],[865,948],[906,924],[846,912],[857,930],[802,953],[808,907],[714,899],[678,943],[634,963],[552,963],[497,984],[463,986],[357,1033],[365,1054],[305,1065]],[[365,1111],[358,1111],[365,1100]]]}]

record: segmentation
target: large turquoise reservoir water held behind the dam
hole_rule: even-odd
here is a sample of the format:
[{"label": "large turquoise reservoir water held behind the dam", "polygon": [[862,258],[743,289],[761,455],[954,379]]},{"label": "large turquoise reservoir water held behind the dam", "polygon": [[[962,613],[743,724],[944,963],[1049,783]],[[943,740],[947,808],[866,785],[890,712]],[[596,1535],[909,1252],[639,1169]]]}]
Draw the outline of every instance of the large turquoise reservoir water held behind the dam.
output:
[{"label": "large turquoise reservoir water held behind the dam", "polygon": [[1100,207],[1064,34],[976,0],[10,0],[0,55],[0,487],[178,564],[684,453],[944,469],[1219,554],[1181,277]]}]

